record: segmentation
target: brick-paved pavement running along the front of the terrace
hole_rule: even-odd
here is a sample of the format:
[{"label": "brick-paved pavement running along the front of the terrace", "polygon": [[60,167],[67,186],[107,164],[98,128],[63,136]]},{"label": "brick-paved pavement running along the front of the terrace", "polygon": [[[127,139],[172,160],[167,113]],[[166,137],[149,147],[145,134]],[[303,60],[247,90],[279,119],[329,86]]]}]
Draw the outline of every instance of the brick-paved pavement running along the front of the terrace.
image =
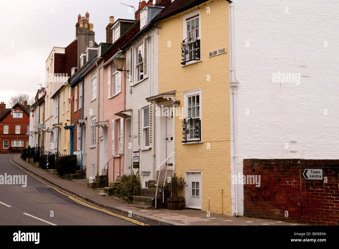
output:
[{"label": "brick-paved pavement running along the front of the terrace", "polygon": [[22,160],[20,155],[13,156],[13,161],[26,171],[51,183],[60,190],[68,192],[85,202],[95,204],[98,207],[114,210],[123,214],[132,214],[139,220],[151,222],[156,225],[233,225],[233,226],[301,226],[305,224],[276,221],[270,219],[258,219],[248,217],[235,217],[223,214],[211,213],[207,217],[205,211],[184,209],[184,210],[144,210],[134,207],[127,207],[127,203],[116,197],[101,196],[98,190],[92,190],[86,186],[86,180],[66,180],[57,175],[52,175],[41,168],[37,168]]}]

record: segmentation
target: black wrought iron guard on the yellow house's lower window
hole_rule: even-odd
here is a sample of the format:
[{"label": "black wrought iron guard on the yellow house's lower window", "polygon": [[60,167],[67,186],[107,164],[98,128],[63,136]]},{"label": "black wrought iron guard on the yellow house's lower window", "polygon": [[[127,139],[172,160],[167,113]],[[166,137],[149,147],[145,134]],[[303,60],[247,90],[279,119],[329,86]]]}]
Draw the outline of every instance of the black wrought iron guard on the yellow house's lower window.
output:
[{"label": "black wrought iron guard on the yellow house's lower window", "polygon": [[[192,134],[193,137],[190,136]],[[185,118],[182,121],[182,135],[184,139],[184,141],[181,141],[182,143],[201,142],[201,120]]]}]

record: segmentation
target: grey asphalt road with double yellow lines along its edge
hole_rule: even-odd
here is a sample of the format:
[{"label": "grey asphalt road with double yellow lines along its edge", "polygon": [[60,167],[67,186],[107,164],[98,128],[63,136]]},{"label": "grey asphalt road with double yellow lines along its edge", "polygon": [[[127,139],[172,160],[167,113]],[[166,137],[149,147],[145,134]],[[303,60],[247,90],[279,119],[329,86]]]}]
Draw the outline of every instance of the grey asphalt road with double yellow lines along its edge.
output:
[{"label": "grey asphalt road with double yellow lines along its edge", "polygon": [[[58,190],[13,164],[12,156],[0,155],[0,225],[154,225]],[[26,175],[27,186],[2,184],[5,173]]]}]

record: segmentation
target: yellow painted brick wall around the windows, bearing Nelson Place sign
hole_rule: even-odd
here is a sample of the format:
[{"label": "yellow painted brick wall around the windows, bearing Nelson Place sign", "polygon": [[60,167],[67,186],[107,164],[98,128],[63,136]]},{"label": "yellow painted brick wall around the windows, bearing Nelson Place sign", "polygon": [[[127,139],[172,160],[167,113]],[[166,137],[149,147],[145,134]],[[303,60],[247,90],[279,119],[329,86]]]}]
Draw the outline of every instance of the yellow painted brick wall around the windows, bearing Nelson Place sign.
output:
[{"label": "yellow painted brick wall around the windows, bearing Nelson Place sign", "polygon": [[[184,107],[184,92],[202,89],[203,143],[183,145],[182,119],[175,119],[175,150],[181,152],[176,163],[176,175],[184,176],[186,170],[202,170],[202,210],[231,215],[228,4],[227,1],[211,1],[200,5],[200,62],[184,67],[180,64],[183,16],[198,10],[198,7],[159,22],[162,26],[158,38],[159,92],[176,90],[175,99],[181,101],[179,107]],[[223,47],[227,49],[226,54],[209,57],[210,51]],[[210,81],[207,81],[207,75]],[[210,149],[207,149],[208,143]]]}]

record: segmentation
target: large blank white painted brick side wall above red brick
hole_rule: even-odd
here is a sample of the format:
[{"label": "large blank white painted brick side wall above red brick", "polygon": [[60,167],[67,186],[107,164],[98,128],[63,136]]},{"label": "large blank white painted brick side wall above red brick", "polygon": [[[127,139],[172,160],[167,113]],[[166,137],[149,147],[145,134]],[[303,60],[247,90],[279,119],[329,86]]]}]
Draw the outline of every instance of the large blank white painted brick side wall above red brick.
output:
[{"label": "large blank white painted brick side wall above red brick", "polygon": [[[238,172],[244,158],[338,159],[339,3],[235,0],[234,6]],[[278,71],[308,78],[300,85],[272,82]],[[232,112],[231,120],[233,139]],[[233,157],[232,163],[233,170]],[[242,186],[238,200],[242,215]],[[234,201],[232,185],[233,211]]]}]

